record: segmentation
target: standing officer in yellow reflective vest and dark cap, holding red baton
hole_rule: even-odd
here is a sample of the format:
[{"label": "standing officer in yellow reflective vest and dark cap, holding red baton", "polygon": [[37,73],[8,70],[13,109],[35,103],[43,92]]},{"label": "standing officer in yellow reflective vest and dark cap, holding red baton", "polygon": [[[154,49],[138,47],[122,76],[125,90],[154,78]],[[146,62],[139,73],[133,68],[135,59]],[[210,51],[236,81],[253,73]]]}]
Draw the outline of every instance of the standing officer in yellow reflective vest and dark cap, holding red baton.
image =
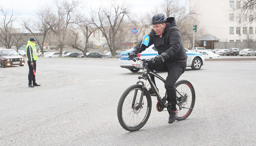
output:
[{"label": "standing officer in yellow reflective vest and dark cap, holding red baton", "polygon": [[[34,86],[40,86],[37,83],[35,83],[35,70],[37,68],[36,61],[38,60],[37,56],[37,49],[35,49],[35,40],[34,38],[30,38],[26,47],[26,56],[28,59],[28,67],[29,67],[29,73],[28,73],[28,87],[34,87]],[[34,71],[33,71],[34,70]],[[32,85],[33,81],[33,85]]]}]

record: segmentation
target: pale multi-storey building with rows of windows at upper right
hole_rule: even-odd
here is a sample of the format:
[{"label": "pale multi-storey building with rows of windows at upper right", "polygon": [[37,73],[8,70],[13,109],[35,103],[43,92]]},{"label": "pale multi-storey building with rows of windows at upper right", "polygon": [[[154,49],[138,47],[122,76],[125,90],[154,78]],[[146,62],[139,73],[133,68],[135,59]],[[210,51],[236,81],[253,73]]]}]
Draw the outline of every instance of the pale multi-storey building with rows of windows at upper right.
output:
[{"label": "pale multi-storey building with rows of windows at upper right", "polygon": [[256,39],[256,16],[243,14],[243,0],[189,0],[196,9],[197,30],[219,38],[219,42],[245,42]]}]

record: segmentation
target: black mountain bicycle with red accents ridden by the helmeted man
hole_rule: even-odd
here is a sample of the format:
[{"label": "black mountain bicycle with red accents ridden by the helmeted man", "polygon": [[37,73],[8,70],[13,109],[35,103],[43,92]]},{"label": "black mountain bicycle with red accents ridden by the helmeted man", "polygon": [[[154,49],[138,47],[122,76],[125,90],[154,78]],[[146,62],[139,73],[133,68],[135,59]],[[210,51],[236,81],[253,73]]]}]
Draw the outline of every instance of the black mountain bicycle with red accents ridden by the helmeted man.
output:
[{"label": "black mountain bicycle with red accents ridden by the helmeted man", "polygon": [[[152,59],[152,58],[151,58]],[[138,77],[138,81],[135,85],[128,87],[121,95],[117,106],[117,117],[120,125],[127,131],[137,131],[141,129],[147,122],[151,109],[152,99],[150,92],[147,90],[147,86],[150,85],[153,91],[156,93],[153,96],[157,97],[156,108],[161,112],[164,108],[167,108],[167,92],[163,98],[151,80],[150,75],[154,75],[165,83],[158,74],[151,72],[148,69],[148,63],[151,59],[140,59],[135,57],[133,61],[140,60],[143,63],[142,76]],[[142,81],[144,79],[144,81]],[[147,83],[148,81],[148,83]],[[147,85],[147,86],[146,86]],[[193,85],[187,80],[179,80],[175,83],[177,93],[177,121],[185,120],[193,111],[195,105],[195,90]],[[167,108],[170,114],[169,109]]]}]

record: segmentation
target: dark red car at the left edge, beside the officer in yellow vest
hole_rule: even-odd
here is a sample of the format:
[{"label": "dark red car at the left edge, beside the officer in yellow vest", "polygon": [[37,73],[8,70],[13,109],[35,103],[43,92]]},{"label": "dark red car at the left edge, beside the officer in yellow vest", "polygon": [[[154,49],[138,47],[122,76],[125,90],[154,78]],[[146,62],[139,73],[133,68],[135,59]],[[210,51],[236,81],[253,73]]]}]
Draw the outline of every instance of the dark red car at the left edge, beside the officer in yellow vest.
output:
[{"label": "dark red car at the left edge, beside the officer in yellow vest", "polygon": [[2,68],[14,65],[23,67],[25,64],[24,57],[20,56],[13,49],[0,49],[0,62]]}]

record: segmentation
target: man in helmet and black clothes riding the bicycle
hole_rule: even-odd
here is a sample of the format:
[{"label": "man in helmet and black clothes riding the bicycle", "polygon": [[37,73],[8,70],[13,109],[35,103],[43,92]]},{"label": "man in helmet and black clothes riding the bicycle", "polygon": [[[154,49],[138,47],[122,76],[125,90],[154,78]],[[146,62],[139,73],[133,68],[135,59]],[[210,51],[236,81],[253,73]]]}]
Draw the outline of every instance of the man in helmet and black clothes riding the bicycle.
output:
[{"label": "man in helmet and black clothes riding the bicycle", "polygon": [[[163,14],[157,14],[151,18],[153,29],[148,34],[150,42],[148,46],[142,44],[142,40],[134,47],[129,54],[129,58],[133,59],[138,53],[144,51],[147,47],[154,44],[158,51],[158,55],[148,64],[148,68],[153,71],[168,71],[165,81],[167,91],[168,109],[170,116],[168,123],[173,123],[177,117],[177,96],[175,83],[184,73],[187,66],[187,54],[181,39],[180,31],[174,17],[166,18]],[[154,76],[151,76],[155,83]],[[150,94],[154,94],[153,89],[149,89]]]}]

